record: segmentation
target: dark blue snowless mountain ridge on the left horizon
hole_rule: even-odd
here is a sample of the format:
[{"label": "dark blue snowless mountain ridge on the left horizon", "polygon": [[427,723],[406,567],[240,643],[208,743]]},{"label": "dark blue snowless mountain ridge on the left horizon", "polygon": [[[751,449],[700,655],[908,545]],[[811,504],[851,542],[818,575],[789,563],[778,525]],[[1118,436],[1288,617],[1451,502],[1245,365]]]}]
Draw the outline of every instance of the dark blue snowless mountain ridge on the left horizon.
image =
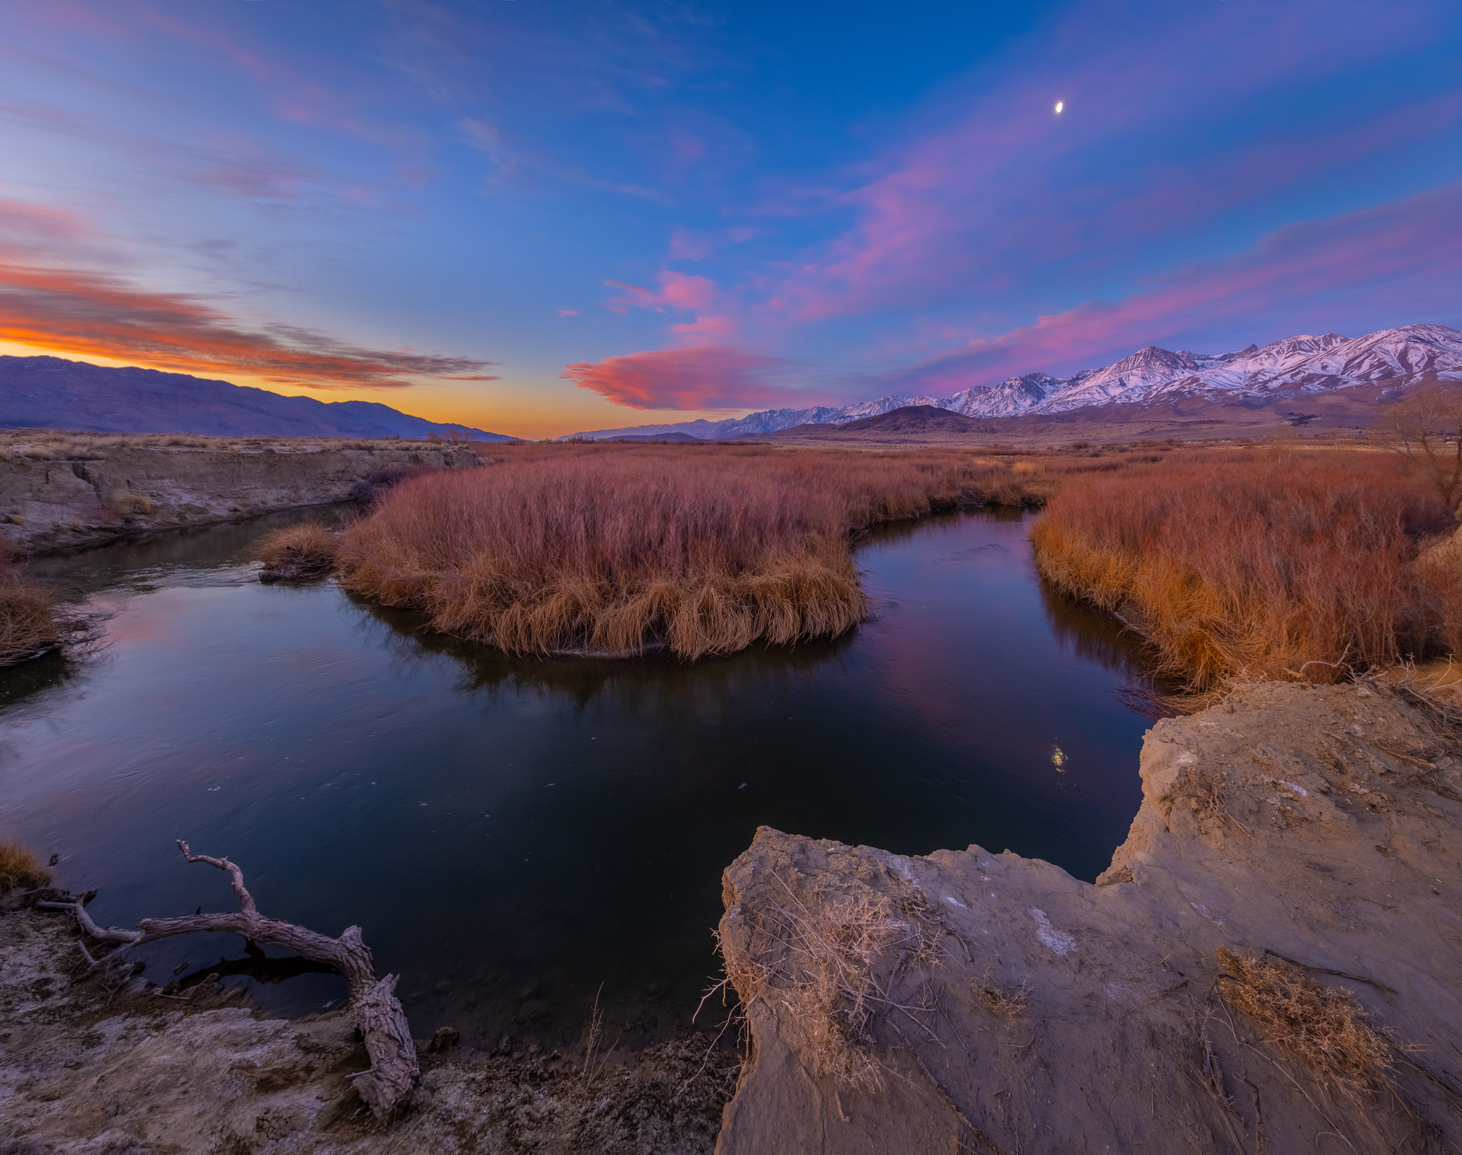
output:
[{"label": "dark blue snowless mountain ridge on the left horizon", "polygon": [[0,428],[417,440],[456,433],[478,442],[512,440],[374,401],[287,398],[186,373],[108,368],[61,357],[0,357]]}]

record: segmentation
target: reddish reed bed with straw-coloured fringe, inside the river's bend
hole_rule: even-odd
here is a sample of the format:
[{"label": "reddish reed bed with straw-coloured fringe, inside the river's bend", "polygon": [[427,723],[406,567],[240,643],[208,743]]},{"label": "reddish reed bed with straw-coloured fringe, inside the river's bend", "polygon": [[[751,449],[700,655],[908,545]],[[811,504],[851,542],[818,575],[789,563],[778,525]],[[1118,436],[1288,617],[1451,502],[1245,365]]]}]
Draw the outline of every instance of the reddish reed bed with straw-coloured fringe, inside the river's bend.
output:
[{"label": "reddish reed bed with straw-coloured fringe, inside the river's bend", "polygon": [[522,446],[402,482],[338,564],[346,589],[507,652],[694,659],[860,621],[857,529],[1023,494],[968,452]]}]

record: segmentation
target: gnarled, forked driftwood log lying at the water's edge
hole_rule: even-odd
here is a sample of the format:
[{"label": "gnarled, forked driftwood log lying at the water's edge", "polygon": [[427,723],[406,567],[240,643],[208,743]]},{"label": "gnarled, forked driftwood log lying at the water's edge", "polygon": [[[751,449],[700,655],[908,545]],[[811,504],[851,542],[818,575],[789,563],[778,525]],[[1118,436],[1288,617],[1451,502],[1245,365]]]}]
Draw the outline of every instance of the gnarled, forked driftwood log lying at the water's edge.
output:
[{"label": "gnarled, forked driftwood log lying at the water's edge", "polygon": [[376,962],[370,947],[361,940],[360,927],[346,927],[339,939],[330,939],[294,923],[281,923],[259,914],[253,895],[244,886],[244,871],[227,858],[212,858],[193,854],[187,842],[178,841],[178,849],[189,863],[208,863],[211,867],[228,871],[240,909],[234,914],[189,914],[178,918],[143,918],[136,930],[102,927],[86,912],[85,901],[37,902],[57,911],[70,911],[80,928],[99,942],[140,946],[142,943],[171,939],[177,934],[224,931],[241,934],[250,942],[292,950],[301,958],[323,962],[351,984],[351,1010],[355,1025],[366,1038],[366,1053],[370,1067],[351,1076],[357,1092],[377,1118],[396,1111],[411,1095],[421,1078],[417,1063],[417,1048],[411,1040],[406,1012],[396,997],[398,975],[376,978]]}]

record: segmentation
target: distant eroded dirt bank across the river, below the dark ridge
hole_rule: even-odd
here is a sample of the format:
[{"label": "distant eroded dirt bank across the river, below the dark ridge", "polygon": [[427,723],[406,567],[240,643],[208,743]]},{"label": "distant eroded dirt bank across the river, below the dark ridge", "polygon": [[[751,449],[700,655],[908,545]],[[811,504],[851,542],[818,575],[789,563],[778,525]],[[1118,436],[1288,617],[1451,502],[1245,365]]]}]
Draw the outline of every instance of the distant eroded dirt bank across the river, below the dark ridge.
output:
[{"label": "distant eroded dirt bank across the river, below the dark ridge", "polygon": [[[387,443],[389,444],[389,443]],[[0,537],[25,553],[126,534],[344,501],[371,474],[478,465],[462,447],[113,447],[99,456],[0,456]]]}]

